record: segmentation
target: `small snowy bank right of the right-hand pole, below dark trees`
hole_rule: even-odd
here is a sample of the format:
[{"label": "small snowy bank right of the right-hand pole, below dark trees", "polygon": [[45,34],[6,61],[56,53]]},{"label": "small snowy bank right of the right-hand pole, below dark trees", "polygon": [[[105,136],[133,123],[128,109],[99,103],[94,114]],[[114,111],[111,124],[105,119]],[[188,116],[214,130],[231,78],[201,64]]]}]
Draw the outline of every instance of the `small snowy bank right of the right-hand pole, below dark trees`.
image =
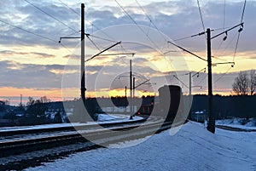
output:
[{"label": "small snowy bank right of the right-hand pole, below dark trees", "polygon": [[245,119],[245,118],[231,118],[231,119],[222,119],[222,120],[217,120],[216,125],[223,125],[223,126],[228,126],[232,128],[241,128],[245,129],[247,131],[256,131],[256,118],[250,118],[250,119]]}]

